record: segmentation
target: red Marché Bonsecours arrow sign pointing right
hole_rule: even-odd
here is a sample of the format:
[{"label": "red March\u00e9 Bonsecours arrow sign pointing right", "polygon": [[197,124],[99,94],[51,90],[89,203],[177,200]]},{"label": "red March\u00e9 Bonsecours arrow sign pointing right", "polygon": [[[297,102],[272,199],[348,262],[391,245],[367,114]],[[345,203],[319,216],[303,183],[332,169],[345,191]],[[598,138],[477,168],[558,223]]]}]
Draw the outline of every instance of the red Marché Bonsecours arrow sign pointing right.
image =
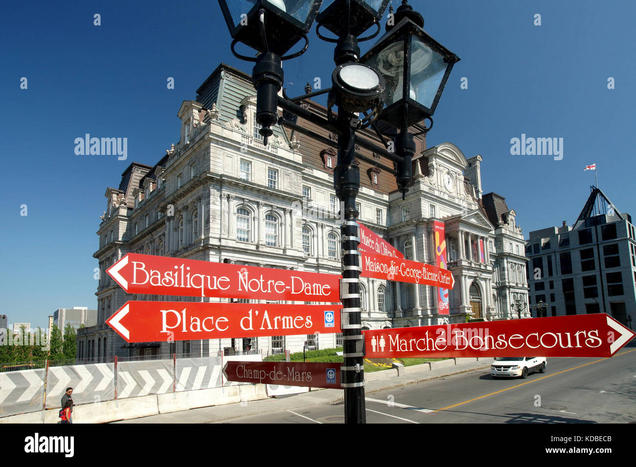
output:
[{"label": "red March\u00e9 Bonsecours arrow sign pointing right", "polygon": [[380,329],[363,334],[366,358],[609,357],[636,335],[605,313]]}]

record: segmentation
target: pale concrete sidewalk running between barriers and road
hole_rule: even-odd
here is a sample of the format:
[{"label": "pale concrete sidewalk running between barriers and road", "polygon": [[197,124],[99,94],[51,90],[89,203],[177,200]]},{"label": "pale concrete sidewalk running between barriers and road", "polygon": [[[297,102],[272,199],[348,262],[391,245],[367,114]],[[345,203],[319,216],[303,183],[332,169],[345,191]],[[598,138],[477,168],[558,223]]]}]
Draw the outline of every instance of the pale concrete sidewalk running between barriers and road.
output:
[{"label": "pale concrete sidewalk running between barriers and road", "polygon": [[[466,360],[471,359],[458,358],[457,362],[453,359],[432,362],[432,365],[430,365],[431,369],[429,369],[429,363],[414,365],[413,367],[404,368],[402,376],[397,376],[396,370],[371,372],[365,375],[364,393],[365,395],[370,395],[385,389],[399,388],[408,384],[474,370],[483,370],[490,368],[490,364],[493,362],[492,358],[482,358],[479,361],[473,360],[472,362]],[[340,389],[322,389],[310,393],[286,396],[281,399],[268,398],[246,403],[214,405],[212,407],[171,412],[169,414],[159,414],[114,423],[214,423],[253,415],[270,414],[282,410],[302,410],[305,407],[342,402],[343,399],[343,391]]]}]

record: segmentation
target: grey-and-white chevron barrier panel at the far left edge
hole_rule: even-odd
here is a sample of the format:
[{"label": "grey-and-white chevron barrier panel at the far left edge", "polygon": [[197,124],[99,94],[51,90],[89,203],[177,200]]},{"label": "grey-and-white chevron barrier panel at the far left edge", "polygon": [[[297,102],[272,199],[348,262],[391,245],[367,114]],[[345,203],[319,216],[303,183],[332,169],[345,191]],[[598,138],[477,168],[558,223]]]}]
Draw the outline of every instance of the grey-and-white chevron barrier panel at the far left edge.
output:
[{"label": "grey-and-white chevron barrier panel at the far left edge", "polygon": [[41,410],[45,374],[45,369],[0,373],[0,416]]}]

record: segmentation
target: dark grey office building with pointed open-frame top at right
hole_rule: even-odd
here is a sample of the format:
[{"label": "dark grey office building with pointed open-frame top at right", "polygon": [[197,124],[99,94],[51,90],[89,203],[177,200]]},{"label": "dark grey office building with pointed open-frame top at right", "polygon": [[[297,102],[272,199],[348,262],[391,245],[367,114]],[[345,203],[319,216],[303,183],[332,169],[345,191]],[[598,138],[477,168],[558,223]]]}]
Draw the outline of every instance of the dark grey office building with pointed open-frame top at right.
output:
[{"label": "dark grey office building with pointed open-frame top at right", "polygon": [[[573,226],[530,232],[532,316],[607,313],[630,325],[636,310],[636,229],[596,187]],[[543,302],[543,303],[542,303]],[[547,304],[537,311],[537,304]]]}]

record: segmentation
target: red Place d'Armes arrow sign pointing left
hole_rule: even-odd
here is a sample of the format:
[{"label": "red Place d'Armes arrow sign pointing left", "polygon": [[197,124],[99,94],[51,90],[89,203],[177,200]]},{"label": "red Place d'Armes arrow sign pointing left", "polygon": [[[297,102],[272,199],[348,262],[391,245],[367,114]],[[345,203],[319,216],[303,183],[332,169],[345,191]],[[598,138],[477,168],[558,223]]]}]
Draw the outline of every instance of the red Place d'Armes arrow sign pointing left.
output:
[{"label": "red Place d'Armes arrow sign pointing left", "polygon": [[342,305],[128,301],[106,324],[126,342],[325,334]]}]

